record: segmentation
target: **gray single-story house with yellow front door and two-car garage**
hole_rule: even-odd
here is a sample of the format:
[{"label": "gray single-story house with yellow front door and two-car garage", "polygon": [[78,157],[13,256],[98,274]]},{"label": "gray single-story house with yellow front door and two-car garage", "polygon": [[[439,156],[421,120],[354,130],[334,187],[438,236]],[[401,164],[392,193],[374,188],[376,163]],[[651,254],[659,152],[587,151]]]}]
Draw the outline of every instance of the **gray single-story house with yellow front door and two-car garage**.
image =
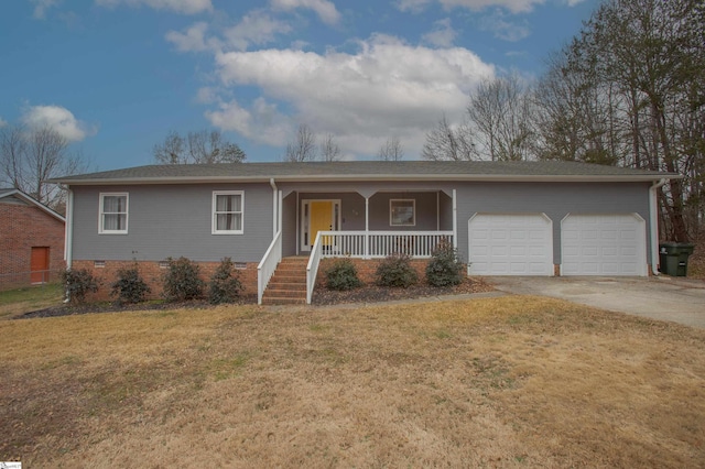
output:
[{"label": "gray single-story house with yellow front door and two-car garage", "polygon": [[655,273],[655,193],[673,177],[573,162],[356,161],[150,165],[54,182],[68,189],[68,265],[137,261],[156,281],[167,258],[209,272],[229,257],[261,302],[282,259],[305,257],[307,286],[290,296],[310,302],[322,258],[429,258],[440,242],[468,275]]}]

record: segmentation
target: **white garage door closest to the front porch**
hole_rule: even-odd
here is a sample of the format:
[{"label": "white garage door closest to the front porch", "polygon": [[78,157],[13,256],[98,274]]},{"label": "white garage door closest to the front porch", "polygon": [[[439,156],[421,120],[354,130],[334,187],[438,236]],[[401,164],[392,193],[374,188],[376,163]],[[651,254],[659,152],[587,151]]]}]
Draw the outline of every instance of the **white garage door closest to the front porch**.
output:
[{"label": "white garage door closest to the front porch", "polygon": [[552,221],[544,214],[477,214],[468,221],[470,275],[553,275]]}]

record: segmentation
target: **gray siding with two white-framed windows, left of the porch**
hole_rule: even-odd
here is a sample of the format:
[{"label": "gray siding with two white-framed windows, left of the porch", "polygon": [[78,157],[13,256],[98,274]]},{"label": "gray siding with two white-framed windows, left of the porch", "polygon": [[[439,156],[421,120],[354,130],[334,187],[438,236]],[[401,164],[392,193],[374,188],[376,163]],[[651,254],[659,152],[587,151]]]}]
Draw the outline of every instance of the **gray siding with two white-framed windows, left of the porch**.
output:
[{"label": "gray siding with two white-framed windows, left of the porch", "polygon": [[[243,190],[243,234],[212,234],[214,190]],[[98,233],[101,192],[129,193],[128,234]],[[272,241],[272,189],[267,184],[77,186],[75,260],[259,262]]]}]

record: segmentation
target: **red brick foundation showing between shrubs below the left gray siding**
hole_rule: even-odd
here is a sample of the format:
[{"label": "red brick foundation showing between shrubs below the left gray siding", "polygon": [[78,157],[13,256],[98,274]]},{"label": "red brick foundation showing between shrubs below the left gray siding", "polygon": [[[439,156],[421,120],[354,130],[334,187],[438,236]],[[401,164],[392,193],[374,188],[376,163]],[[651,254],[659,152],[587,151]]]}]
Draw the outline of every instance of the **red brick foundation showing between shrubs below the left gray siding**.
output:
[{"label": "red brick foundation showing between shrubs below the left gray siding", "polygon": [[[104,268],[97,268],[95,261],[76,261],[72,262],[72,269],[87,269],[94,276],[100,280],[98,293],[89,295],[88,301],[113,299],[110,296],[110,285],[117,280],[120,269],[131,268],[134,261],[105,261]],[[208,283],[220,262],[196,262],[200,268],[200,279]],[[149,299],[162,298],[162,279],[166,272],[166,268],[161,268],[156,261],[138,261],[137,262],[140,276],[152,290],[148,296]],[[257,295],[257,263],[249,262],[246,269],[236,269],[235,272],[243,286],[243,295]]]}]

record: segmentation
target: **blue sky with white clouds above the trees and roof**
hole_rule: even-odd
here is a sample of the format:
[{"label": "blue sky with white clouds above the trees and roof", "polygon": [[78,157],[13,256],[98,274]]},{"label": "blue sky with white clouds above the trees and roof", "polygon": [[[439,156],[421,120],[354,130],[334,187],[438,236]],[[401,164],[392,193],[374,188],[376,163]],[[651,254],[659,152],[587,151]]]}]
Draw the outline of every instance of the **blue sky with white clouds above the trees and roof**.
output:
[{"label": "blue sky with white clouds above the trees and roof", "polygon": [[52,124],[95,170],[151,164],[167,132],[219,129],[279,161],[301,123],[346,159],[419,159],[474,87],[541,75],[599,0],[12,0],[0,126]]}]

